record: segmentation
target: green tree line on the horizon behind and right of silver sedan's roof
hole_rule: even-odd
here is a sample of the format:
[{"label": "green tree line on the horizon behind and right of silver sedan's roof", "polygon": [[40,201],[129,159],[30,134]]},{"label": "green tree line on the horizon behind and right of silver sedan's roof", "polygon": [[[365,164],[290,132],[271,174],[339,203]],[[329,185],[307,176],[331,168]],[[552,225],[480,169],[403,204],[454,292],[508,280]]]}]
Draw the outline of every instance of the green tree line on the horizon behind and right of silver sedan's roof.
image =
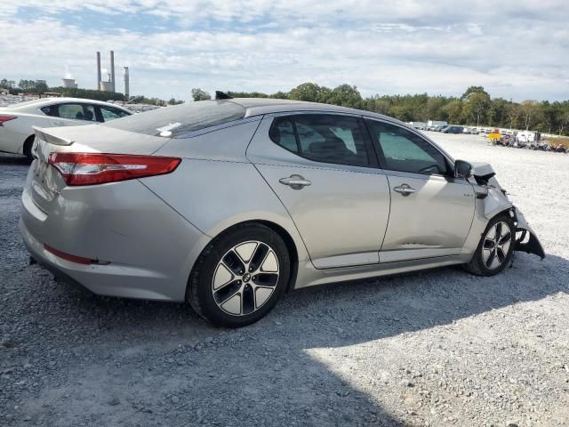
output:
[{"label": "green tree line on the horizon behind and right of silver sedan's roof", "polygon": [[[323,102],[396,117],[404,122],[445,120],[453,125],[477,125],[528,129],[541,133],[569,134],[569,101],[514,102],[491,98],[482,86],[470,86],[461,97],[428,95],[373,95],[363,98],[353,85],[333,89],[303,83],[289,92],[259,93],[227,91],[233,98],[277,98]],[[209,100],[202,89],[192,89],[194,101]]]}]

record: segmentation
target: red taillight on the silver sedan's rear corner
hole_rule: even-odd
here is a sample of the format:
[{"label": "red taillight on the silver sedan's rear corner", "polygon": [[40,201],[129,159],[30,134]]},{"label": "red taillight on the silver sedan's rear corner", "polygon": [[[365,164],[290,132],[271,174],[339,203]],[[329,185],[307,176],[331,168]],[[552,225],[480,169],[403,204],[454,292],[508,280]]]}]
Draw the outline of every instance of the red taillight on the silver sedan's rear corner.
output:
[{"label": "red taillight on the silver sedan's rear corner", "polygon": [[171,173],[181,159],[103,153],[52,153],[49,164],[68,185],[93,185]]}]

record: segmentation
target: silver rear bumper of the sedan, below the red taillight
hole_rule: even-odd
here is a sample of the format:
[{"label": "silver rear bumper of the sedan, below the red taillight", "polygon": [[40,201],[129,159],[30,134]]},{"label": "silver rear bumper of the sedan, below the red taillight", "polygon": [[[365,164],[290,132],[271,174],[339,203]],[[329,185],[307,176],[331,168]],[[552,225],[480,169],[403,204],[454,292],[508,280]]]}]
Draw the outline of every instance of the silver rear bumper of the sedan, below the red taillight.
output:
[{"label": "silver rear bumper of the sedan, below the red taillight", "polygon": [[[20,233],[40,265],[94,294],[184,300],[189,273],[210,238],[139,181],[119,183],[122,189],[72,189],[76,194],[68,191],[67,197],[61,191],[51,214],[34,202],[30,182],[22,195]],[[44,245],[93,262],[68,261]]]}]

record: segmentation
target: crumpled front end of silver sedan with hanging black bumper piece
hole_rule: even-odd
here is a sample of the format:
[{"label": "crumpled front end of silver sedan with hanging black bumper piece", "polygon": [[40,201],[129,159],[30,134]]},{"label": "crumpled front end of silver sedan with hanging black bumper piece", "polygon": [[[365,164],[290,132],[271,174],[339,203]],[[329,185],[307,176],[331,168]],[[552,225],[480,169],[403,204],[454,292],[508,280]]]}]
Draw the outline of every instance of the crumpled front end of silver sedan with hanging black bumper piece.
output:
[{"label": "crumpled front end of silver sedan with hanging black bumper piece", "polygon": [[509,200],[506,190],[501,188],[495,175],[492,165],[487,163],[472,164],[472,175],[469,180],[474,186],[477,198],[483,199],[485,218],[490,220],[496,214],[508,212],[516,226],[514,250],[536,254],[541,259],[545,258],[545,252],[539,238],[525,220],[524,214]]}]

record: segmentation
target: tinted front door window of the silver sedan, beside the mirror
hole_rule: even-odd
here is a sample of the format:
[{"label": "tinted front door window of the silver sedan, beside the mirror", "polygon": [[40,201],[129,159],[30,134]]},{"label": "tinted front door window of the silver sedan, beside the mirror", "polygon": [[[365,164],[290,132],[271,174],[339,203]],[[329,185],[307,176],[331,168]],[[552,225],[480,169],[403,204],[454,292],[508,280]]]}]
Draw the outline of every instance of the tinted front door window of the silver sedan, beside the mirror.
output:
[{"label": "tinted front door window of the silver sedan, beside the mirror", "polygon": [[390,171],[446,174],[445,157],[421,136],[397,125],[366,120],[382,167]]}]

